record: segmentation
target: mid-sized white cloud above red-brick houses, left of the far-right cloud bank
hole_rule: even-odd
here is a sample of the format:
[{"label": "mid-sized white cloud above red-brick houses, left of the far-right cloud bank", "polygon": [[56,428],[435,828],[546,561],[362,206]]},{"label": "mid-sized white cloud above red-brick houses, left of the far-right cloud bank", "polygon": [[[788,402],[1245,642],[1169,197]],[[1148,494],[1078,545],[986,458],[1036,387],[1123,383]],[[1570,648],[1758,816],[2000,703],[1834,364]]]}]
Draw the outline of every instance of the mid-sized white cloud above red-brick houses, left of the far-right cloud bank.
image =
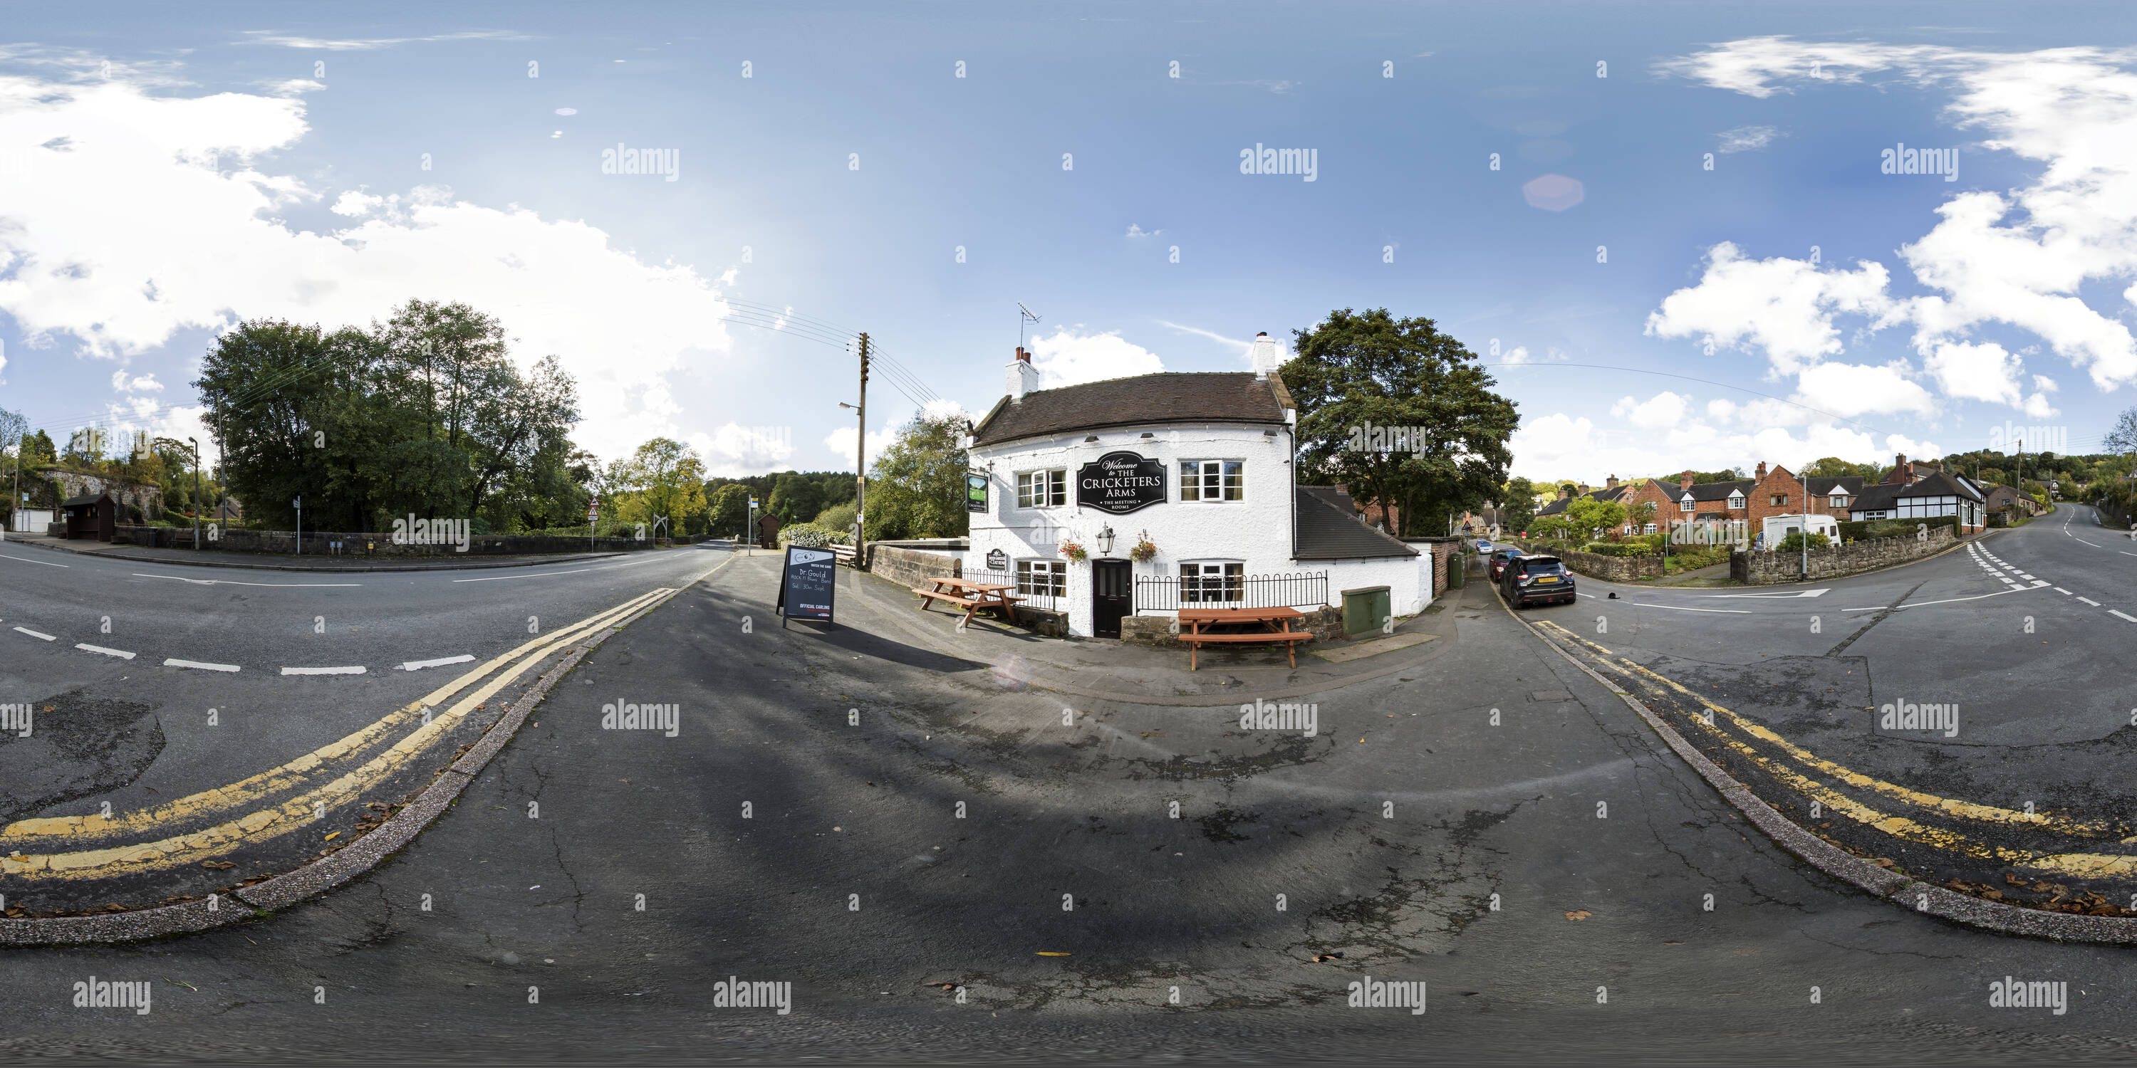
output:
[{"label": "mid-sized white cloud above red-brick houses, left of the far-right cloud bank", "polygon": [[1776,374],[1795,374],[1842,352],[1836,314],[1889,312],[1885,280],[1881,263],[1821,271],[1787,256],[1744,258],[1735,244],[1720,241],[1707,250],[1699,284],[1665,297],[1663,308],[1648,316],[1645,333],[1759,350]]}]

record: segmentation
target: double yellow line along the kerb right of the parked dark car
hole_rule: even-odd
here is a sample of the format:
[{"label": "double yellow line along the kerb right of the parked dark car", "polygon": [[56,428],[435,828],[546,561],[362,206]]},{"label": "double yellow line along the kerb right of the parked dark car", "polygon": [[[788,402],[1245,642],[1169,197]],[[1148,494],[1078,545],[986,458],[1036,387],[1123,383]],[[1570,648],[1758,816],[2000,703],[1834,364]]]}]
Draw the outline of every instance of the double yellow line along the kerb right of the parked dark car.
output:
[{"label": "double yellow line along the kerb right of the parked dark car", "polygon": [[[1705,707],[1707,716],[1686,713],[1686,720],[1690,720],[1690,724],[1697,726],[1707,737],[1720,741],[1731,752],[1735,752],[1737,756],[1742,756],[1750,765],[1754,765],[1761,771],[1765,771],[1767,775],[1772,775],[1782,786],[1787,786],[1787,788],[1791,788],[1791,790],[1795,790],[1795,792],[1799,792],[1799,795],[1816,801],[1823,810],[1840,814],[1840,816],[1844,816],[1844,818],[1849,818],[1853,822],[1859,822],[1859,824],[1870,827],[1874,831],[1881,831],[1885,835],[1898,837],[1902,842],[1915,842],[1915,844],[1921,844],[1921,846],[1932,846],[1932,848],[1938,848],[1938,850],[1949,850],[1949,852],[1957,852],[1957,854],[1964,854],[1964,857],[1972,857],[1977,861],[1990,861],[1990,863],[1998,863],[1998,865],[2032,867],[2032,869],[2041,869],[2041,871],[2056,871],[2056,874],[2062,874],[2062,876],[2077,876],[2077,878],[2131,878],[2131,876],[2137,876],[2137,857],[2111,854],[2111,852],[2032,852],[2032,850],[2015,850],[2015,848],[2005,848],[2005,846],[1992,846],[1987,842],[1979,842],[1975,837],[1968,837],[1968,835],[1962,835],[1962,833],[1955,833],[1955,831],[1945,831],[1945,829],[1938,829],[1938,827],[1930,827],[1930,824],[1923,824],[1919,820],[1913,820],[1913,818],[1906,818],[1906,816],[1898,816],[1898,814],[1889,814],[1889,812],[1876,810],[1872,805],[1866,805],[1861,801],[1855,801],[1853,797],[1834,790],[1825,782],[1806,775],[1804,771],[1791,767],[1789,763],[1784,763],[1784,760],[1780,760],[1776,756],[1767,756],[1765,752],[1761,752],[1750,741],[1731,735],[1725,728],[1725,724],[1733,726],[1735,731],[1742,731],[1744,735],[1748,735],[1750,739],[1754,739],[1754,741],[1759,741],[1759,743],[1763,743],[1767,748],[1780,750],[1791,760],[1797,760],[1797,763],[1801,763],[1801,765],[1806,765],[1806,767],[1810,767],[1810,769],[1814,769],[1819,773],[1825,773],[1831,780],[1844,782],[1846,786],[1853,786],[1857,790],[1866,790],[1866,792],[1874,792],[1878,797],[1887,797],[1887,799],[1900,801],[1900,803],[1917,807],[1917,810],[1934,812],[1938,816],[1947,816],[1947,818],[1955,818],[1955,820],[1987,822],[1987,824],[2005,824],[2005,827],[2034,827],[2034,829],[2054,831],[2054,833],[2073,835],[2073,837],[2111,837],[2111,835],[2120,835],[2122,833],[2122,829],[2118,829],[2113,824],[2088,822],[2088,820],[2073,820],[2073,818],[2066,818],[2066,816],[2056,816],[2056,814],[2045,814],[2045,812],[2019,812],[2019,810],[2007,810],[2007,807],[1996,807],[1996,805],[1981,805],[1981,803],[1972,803],[1972,801],[1960,801],[1960,799],[1951,799],[1951,797],[1938,797],[1938,795],[1930,795],[1930,792],[1921,792],[1921,790],[1910,790],[1910,788],[1893,784],[1893,782],[1885,782],[1885,780],[1878,780],[1878,778],[1872,778],[1872,775],[1863,775],[1861,771],[1855,771],[1855,769],[1836,765],[1831,760],[1825,760],[1823,756],[1816,756],[1814,752],[1810,752],[1810,750],[1806,750],[1801,745],[1795,745],[1789,739],[1776,735],[1767,726],[1763,726],[1759,722],[1752,722],[1752,720],[1746,720],[1744,716],[1737,716],[1735,711],[1729,711],[1729,709],[1725,709],[1725,707],[1720,707],[1720,705],[1716,705],[1716,703],[1712,703],[1712,701],[1707,701],[1707,698],[1703,698],[1703,696],[1686,690],[1678,681],[1667,679],[1663,675],[1656,675],[1654,671],[1648,671],[1645,666],[1635,664],[1635,662],[1631,662],[1631,660],[1626,660],[1622,656],[1616,656],[1609,649],[1605,649],[1605,647],[1601,647],[1601,645],[1596,645],[1596,643],[1592,643],[1592,641],[1588,641],[1588,639],[1584,639],[1584,637],[1579,637],[1579,634],[1575,634],[1575,632],[1571,632],[1571,630],[1566,630],[1566,628],[1562,628],[1558,624],[1551,624],[1551,622],[1543,619],[1543,622],[1537,622],[1534,626],[1539,630],[1543,630],[1543,632],[1549,632],[1549,637],[1556,639],[1558,643],[1571,647],[1571,651],[1577,654],[1577,656],[1581,656],[1581,660],[1588,660],[1588,662],[1592,662],[1596,666],[1603,666],[1603,669],[1607,669],[1607,671],[1624,677],[1626,681],[1639,686],[1641,690],[1648,690],[1650,694],[1669,696],[1667,690],[1673,690],[1675,694],[1682,694],[1682,696],[1690,698],[1693,703]],[[2137,837],[2124,837],[2122,839],[2122,844],[2133,844],[2133,842],[2137,842]]]}]

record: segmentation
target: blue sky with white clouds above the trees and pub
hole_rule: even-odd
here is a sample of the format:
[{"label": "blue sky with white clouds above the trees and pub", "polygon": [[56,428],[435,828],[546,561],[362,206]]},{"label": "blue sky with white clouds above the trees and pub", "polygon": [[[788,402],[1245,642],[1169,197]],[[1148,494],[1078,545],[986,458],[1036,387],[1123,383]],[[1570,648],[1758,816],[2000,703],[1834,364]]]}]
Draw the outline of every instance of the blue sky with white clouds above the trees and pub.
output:
[{"label": "blue sky with white clouds above the trees and pub", "polygon": [[556,355],[581,446],[727,476],[851,470],[859,331],[870,457],[1019,340],[1043,387],[1246,370],[1338,308],[1492,365],[1530,478],[2086,453],[2137,406],[2118,4],[0,13],[0,408],[56,440],[212,457],[220,331],[408,299]]}]

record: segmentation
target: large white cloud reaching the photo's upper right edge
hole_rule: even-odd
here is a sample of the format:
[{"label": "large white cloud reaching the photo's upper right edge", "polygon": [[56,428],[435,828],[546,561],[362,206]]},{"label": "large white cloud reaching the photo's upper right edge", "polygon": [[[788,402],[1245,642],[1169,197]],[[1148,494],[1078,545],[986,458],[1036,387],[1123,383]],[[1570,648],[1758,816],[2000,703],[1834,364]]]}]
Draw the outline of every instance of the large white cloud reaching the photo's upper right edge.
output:
[{"label": "large white cloud reaching the photo's upper right edge", "polygon": [[[2124,310],[2101,312],[2086,282],[2137,276],[2137,49],[1968,51],[1932,45],[1812,45],[1759,36],[1660,64],[1665,73],[1765,98],[1806,81],[1859,83],[1893,70],[1953,85],[1945,115],[1979,145],[2039,167],[2009,192],[1960,192],[1900,258],[1940,295],[1908,301],[1923,357],[1985,323],[2049,342],[2101,389],[2137,382]],[[1908,141],[1928,143],[1915,135]],[[1863,158],[1861,167],[1872,167]],[[2137,284],[2122,288],[2137,305]],[[2026,397],[2026,406],[2034,406]],[[2041,402],[2045,406],[2045,399]]]}]

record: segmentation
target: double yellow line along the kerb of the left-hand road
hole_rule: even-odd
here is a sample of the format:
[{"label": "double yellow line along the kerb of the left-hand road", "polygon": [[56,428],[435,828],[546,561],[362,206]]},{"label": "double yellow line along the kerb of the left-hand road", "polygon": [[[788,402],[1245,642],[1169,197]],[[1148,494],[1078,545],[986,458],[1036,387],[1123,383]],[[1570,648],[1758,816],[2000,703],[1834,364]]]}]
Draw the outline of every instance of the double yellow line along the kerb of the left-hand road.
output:
[{"label": "double yellow line along the kerb of the left-hand road", "polygon": [[[30,880],[79,880],[109,878],[128,871],[171,869],[233,852],[239,846],[276,839],[312,827],[318,822],[321,812],[331,812],[355,801],[365,788],[406,767],[447,731],[459,724],[468,711],[487,703],[498,690],[511,686],[547,656],[583,641],[600,628],[648,609],[675,592],[677,590],[667,587],[654,590],[598,615],[579,619],[562,630],[532,639],[517,649],[492,658],[466,675],[432,690],[430,694],[423,694],[415,703],[383,716],[361,731],[229,786],[201,790],[190,797],[128,814],[115,814],[111,818],[49,816],[6,824],[0,829],[0,876]],[[421,720],[425,709],[444,705],[453,698],[453,694],[459,694],[479,681],[481,686],[455,701],[449,709],[434,711],[430,722],[423,722],[363,765],[342,771],[348,763],[372,750],[395,728]],[[336,771],[340,773],[336,775]],[[301,788],[327,775],[333,778],[288,797],[280,805],[263,805],[263,801],[271,795]],[[98,846],[103,842],[122,842],[205,820],[216,822],[201,831],[165,835],[150,842]],[[28,852],[32,848],[38,852]]]}]

